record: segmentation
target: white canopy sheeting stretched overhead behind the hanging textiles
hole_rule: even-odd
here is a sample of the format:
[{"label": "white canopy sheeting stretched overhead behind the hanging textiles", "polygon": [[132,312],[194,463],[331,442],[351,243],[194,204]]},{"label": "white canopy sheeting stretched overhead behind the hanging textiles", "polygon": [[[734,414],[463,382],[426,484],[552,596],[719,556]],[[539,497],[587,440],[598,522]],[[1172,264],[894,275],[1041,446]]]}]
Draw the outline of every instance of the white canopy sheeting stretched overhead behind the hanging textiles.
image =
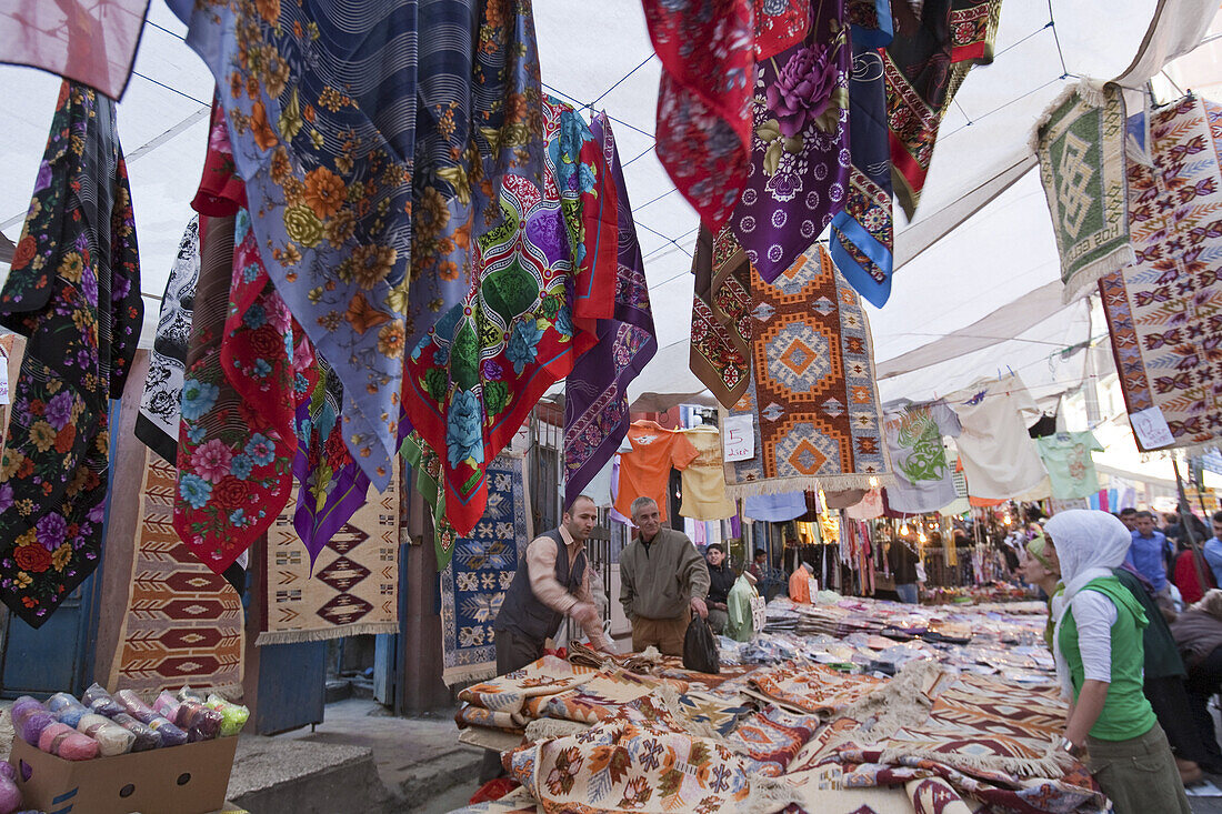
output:
[{"label": "white canopy sheeting stretched overhead behind the hanging textiles", "polygon": [[[547,92],[574,106],[605,109],[626,165],[662,348],[633,396],[653,394],[639,406],[654,409],[689,401],[700,390],[687,372],[697,216],[653,153],[660,65],[640,5],[584,2],[580,15],[567,0],[536,0],[534,7]],[[897,224],[899,269],[891,301],[870,309],[884,400],[945,394],[1007,369],[1037,395],[1081,381],[1085,354],[1050,356],[1106,329],[1091,325],[1086,304],[1061,306],[1030,133],[1048,103],[1079,77],[1123,77],[1135,90],[1128,95],[1139,100],[1146,79],[1196,45],[1216,11],[1217,0],[1113,0],[1106,10],[1074,0],[1003,2],[996,60],[974,68],[957,94],[916,219]],[[119,109],[147,295],[145,345],[192,214],[213,94],[213,78],[183,33],[164,4],[153,2],[137,73]],[[1206,89],[1222,79],[1212,45],[1168,75],[1180,87],[1204,76],[1207,83],[1194,87]],[[10,241],[21,231],[59,82],[31,68],[0,67],[10,156],[0,167],[0,231]]]}]

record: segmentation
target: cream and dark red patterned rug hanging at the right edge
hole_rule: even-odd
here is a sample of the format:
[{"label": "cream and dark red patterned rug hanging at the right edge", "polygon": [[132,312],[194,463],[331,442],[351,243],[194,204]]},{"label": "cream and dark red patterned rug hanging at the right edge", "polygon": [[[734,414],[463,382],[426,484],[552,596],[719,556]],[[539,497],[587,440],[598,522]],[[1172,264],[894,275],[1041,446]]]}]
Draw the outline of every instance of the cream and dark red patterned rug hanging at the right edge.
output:
[{"label": "cream and dark red patterned rug hanging at the right edge", "polygon": [[1154,166],[1128,170],[1138,260],[1099,287],[1128,411],[1158,407],[1173,447],[1212,444],[1222,436],[1222,105],[1188,95],[1156,109],[1149,132]]}]

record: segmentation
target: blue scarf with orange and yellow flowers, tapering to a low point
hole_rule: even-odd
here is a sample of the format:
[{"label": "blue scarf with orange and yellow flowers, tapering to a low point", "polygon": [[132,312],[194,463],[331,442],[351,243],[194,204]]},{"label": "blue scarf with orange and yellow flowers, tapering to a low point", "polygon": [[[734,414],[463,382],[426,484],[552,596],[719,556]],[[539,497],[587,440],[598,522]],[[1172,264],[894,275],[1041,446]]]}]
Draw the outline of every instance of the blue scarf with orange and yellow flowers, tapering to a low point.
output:
[{"label": "blue scarf with orange and yellow flowers, tapering to a low point", "polygon": [[266,271],[343,384],[345,442],[382,489],[407,346],[418,0],[169,5],[221,88]]}]

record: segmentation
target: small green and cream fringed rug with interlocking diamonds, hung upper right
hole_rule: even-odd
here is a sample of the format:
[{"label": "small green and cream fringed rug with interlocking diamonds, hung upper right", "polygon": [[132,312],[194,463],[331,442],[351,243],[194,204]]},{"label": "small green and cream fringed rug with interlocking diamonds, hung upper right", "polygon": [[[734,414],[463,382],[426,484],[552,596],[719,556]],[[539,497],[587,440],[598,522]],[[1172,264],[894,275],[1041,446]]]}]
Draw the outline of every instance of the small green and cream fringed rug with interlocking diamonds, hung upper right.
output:
[{"label": "small green and cream fringed rug with interlocking diamonds, hung upper right", "polygon": [[1086,81],[1055,101],[1036,132],[1040,180],[1061,253],[1064,302],[1133,262],[1124,191],[1124,97]]}]

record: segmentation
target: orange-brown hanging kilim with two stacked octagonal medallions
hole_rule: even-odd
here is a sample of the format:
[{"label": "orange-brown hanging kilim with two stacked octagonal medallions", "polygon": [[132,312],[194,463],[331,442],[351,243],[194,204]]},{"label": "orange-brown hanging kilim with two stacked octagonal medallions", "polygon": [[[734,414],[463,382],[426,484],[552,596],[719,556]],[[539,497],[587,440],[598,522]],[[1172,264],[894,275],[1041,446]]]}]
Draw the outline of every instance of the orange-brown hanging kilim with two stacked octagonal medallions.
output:
[{"label": "orange-brown hanging kilim with two stacked octagonal medallions", "polygon": [[816,244],[776,279],[752,271],[752,385],[726,411],[748,416],[754,457],[726,463],[732,499],[869,488],[890,472],[862,301]]}]

